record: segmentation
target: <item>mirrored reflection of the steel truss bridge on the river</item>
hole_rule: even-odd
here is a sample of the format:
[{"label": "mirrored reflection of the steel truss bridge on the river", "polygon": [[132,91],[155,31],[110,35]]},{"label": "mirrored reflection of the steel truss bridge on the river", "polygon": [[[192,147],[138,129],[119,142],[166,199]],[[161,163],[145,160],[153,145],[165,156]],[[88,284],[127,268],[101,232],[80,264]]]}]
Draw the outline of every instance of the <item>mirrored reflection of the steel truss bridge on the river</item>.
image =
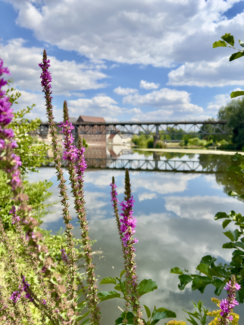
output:
[{"label": "mirrored reflection of the steel truss bridge on the river", "polygon": [[86,158],[88,168],[119,169],[137,171],[160,171],[215,174],[224,173],[228,168],[225,162],[199,162],[186,160],[146,160],[146,159],[111,159]]}]

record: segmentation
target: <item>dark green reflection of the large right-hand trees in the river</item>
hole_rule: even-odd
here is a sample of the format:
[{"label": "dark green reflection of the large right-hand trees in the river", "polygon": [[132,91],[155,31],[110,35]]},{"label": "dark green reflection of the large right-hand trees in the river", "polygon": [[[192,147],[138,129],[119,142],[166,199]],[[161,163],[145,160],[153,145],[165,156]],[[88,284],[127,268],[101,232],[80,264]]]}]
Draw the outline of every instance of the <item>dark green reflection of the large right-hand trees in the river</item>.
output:
[{"label": "dark green reflection of the large right-hand trees in the river", "polygon": [[[238,185],[239,182],[237,181],[238,179],[237,174],[234,172],[227,171],[226,170],[227,168],[223,169],[223,165],[221,165],[222,162],[225,163],[227,167],[234,165],[235,162],[232,160],[232,157],[233,156],[229,156],[229,155],[201,154],[199,155],[198,159],[201,165],[206,170],[210,170],[214,165],[214,167],[216,168],[216,174],[215,174],[216,182],[217,184],[224,186],[223,189],[225,193],[228,193],[229,191],[232,190],[241,195],[244,194],[244,186]],[[218,173],[218,172],[222,172],[222,173]]]}]

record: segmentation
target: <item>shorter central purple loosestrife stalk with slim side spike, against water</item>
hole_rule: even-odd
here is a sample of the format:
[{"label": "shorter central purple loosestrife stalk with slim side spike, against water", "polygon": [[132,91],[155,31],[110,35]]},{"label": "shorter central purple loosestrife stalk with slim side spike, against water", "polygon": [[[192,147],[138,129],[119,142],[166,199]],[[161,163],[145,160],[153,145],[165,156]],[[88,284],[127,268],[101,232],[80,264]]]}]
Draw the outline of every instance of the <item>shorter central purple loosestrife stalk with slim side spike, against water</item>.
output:
[{"label": "shorter central purple loosestrife stalk with slim side spike, against water", "polygon": [[[132,235],[135,233],[136,228],[136,218],[133,216],[133,206],[135,200],[133,199],[133,196],[131,195],[131,185],[130,185],[130,179],[129,179],[129,172],[128,169],[126,169],[125,172],[125,197],[124,201],[119,203],[121,206],[122,213],[120,216],[122,218],[119,219],[118,216],[118,200],[117,200],[117,192],[115,190],[116,185],[114,178],[112,178],[112,183],[110,184],[112,187],[111,195],[113,201],[112,206],[114,207],[115,211],[115,218],[117,221],[117,226],[119,230],[120,239],[122,241],[122,250],[123,250],[123,257],[124,257],[124,266],[125,266],[125,284],[126,284],[126,313],[128,311],[129,305],[131,305],[131,308],[133,310],[133,313],[135,315],[134,317],[134,323],[136,325],[143,324],[142,320],[142,311],[141,306],[139,303],[140,296],[137,292],[137,275],[136,275],[136,263],[135,263],[135,247],[134,243],[138,242],[136,238],[133,238]],[[124,319],[124,323],[126,323],[126,319]]]}]

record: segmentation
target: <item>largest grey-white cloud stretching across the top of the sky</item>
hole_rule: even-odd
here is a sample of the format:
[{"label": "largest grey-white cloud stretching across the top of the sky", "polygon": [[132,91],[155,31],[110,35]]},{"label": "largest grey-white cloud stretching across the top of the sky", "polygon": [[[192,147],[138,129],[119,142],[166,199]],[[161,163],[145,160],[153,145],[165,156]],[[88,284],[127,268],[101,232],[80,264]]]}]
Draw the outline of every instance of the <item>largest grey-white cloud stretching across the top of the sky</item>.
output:
[{"label": "largest grey-white cloud stretching across the top of the sky", "polygon": [[38,40],[90,59],[129,64],[170,67],[218,57],[223,52],[211,44],[226,31],[241,38],[244,27],[244,13],[222,16],[239,0],[9,2],[18,10],[18,24]]}]

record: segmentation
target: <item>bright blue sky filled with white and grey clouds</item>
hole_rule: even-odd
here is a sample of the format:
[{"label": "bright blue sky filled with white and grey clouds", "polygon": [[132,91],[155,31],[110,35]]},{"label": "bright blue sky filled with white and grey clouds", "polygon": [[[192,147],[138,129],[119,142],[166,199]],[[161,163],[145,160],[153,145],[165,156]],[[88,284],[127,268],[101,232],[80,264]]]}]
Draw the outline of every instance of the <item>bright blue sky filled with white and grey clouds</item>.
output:
[{"label": "bright blue sky filled with white and grey clouds", "polygon": [[106,121],[216,118],[244,89],[244,59],[212,48],[226,32],[242,49],[243,0],[0,0],[0,57],[22,96],[36,106],[43,49],[50,59],[54,115]]}]

